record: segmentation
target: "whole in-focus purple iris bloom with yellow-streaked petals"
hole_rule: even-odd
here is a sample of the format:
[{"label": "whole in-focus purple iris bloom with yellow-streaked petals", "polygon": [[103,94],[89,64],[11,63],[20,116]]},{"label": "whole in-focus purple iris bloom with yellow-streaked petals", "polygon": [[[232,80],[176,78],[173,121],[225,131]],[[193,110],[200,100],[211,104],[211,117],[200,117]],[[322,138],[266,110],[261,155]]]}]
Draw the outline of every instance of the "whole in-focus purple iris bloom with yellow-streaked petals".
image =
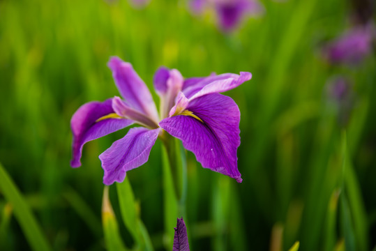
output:
[{"label": "whole in-focus purple iris bloom with yellow-streaked petals", "polygon": [[123,99],[115,96],[104,102],[88,102],[73,114],[72,167],[80,167],[86,142],[138,124],[140,127],[131,128],[99,155],[106,185],[122,182],[126,172],[143,165],[156,139],[165,137],[166,132],[181,139],[202,167],[242,181],[236,157],[239,108],[232,98],[219,93],[248,81],[250,73],[184,79],[178,70],[159,68],[153,79],[160,96],[158,114],[149,89],[130,63],[112,57],[108,66]]}]

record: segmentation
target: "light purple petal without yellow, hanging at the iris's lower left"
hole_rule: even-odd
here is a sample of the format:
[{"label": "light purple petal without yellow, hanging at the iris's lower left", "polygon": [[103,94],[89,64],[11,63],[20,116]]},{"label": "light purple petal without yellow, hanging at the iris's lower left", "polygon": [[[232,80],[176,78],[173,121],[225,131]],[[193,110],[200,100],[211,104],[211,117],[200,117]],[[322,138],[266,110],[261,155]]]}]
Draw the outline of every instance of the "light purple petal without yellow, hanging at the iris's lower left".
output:
[{"label": "light purple petal without yellow, hanging at the iris's lower left", "polygon": [[116,140],[109,149],[99,155],[105,171],[103,183],[122,182],[126,172],[143,165],[149,158],[160,128],[131,128],[122,139]]}]

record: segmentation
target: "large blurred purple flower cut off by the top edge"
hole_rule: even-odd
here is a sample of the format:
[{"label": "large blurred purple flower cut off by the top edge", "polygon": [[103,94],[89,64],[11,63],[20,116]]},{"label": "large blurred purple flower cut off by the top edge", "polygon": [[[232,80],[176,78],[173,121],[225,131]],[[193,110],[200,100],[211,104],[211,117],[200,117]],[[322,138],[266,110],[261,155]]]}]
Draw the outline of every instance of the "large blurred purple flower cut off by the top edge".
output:
[{"label": "large blurred purple flower cut off by the top edge", "polygon": [[247,16],[264,13],[264,7],[257,0],[192,0],[190,7],[196,14],[206,7],[216,10],[218,24],[225,32],[236,29]]}]

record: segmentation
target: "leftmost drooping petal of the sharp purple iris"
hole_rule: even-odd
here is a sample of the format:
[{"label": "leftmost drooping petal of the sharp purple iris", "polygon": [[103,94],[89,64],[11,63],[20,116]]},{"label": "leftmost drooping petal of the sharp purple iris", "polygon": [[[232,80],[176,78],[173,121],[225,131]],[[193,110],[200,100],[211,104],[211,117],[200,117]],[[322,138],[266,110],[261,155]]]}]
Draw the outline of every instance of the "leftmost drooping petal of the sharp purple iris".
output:
[{"label": "leftmost drooping petal of the sharp purple iris", "polygon": [[113,114],[112,98],[105,102],[88,102],[82,105],[70,120],[70,128],[73,132],[73,158],[70,161],[72,167],[81,166],[82,147],[86,142],[98,139],[105,135],[126,128],[133,123],[129,119],[98,119],[108,114]]}]

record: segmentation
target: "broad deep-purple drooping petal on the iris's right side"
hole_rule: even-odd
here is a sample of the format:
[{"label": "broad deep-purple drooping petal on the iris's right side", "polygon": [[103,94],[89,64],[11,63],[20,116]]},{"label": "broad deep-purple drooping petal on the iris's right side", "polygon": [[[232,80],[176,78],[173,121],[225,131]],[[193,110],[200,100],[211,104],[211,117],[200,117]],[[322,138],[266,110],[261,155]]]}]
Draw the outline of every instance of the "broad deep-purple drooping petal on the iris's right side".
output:
[{"label": "broad deep-purple drooping petal on the iris's right side", "polygon": [[242,181],[236,151],[240,145],[240,112],[232,98],[218,93],[192,100],[187,107],[193,116],[178,115],[160,121],[159,126],[181,139],[202,167]]}]

